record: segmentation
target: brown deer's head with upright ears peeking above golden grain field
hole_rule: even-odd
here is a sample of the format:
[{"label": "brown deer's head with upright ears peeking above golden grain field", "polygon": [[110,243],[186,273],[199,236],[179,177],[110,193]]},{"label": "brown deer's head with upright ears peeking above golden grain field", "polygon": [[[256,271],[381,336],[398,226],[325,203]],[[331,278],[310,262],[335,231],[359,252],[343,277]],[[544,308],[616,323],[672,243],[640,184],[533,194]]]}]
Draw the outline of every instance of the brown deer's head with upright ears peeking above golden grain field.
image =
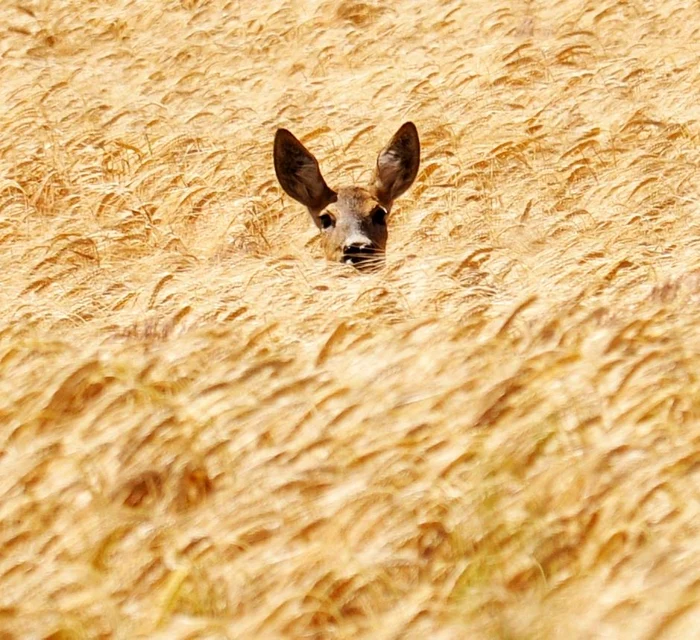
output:
[{"label": "brown deer's head with upright ears peeking above golden grain field", "polygon": [[308,209],[328,260],[358,270],[384,263],[391,208],[413,184],[420,165],[420,140],[412,122],[404,123],[379,152],[368,188],[331,189],[318,160],[287,129],[277,130],[273,156],[280,186]]}]

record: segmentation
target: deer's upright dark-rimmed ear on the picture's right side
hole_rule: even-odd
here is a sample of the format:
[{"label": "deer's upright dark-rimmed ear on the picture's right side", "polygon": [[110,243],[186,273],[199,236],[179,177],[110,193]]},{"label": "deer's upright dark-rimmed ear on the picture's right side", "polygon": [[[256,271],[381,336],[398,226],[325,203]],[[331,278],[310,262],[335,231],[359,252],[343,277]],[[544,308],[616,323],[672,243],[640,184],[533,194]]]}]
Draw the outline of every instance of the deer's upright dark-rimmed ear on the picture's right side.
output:
[{"label": "deer's upright dark-rimmed ear on the picture's right side", "polygon": [[412,122],[406,122],[379,152],[374,175],[377,200],[387,209],[416,179],[420,166],[420,140]]}]

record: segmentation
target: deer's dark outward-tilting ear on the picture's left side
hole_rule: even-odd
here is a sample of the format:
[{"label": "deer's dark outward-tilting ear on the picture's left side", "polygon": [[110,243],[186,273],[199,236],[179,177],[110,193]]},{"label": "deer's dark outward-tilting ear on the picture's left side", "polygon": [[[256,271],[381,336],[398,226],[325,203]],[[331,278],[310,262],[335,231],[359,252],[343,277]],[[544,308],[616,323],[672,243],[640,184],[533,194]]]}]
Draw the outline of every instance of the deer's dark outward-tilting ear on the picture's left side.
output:
[{"label": "deer's dark outward-tilting ear on the picture's left side", "polygon": [[275,173],[285,193],[308,207],[312,215],[338,199],[321,175],[318,160],[287,129],[275,134]]}]

